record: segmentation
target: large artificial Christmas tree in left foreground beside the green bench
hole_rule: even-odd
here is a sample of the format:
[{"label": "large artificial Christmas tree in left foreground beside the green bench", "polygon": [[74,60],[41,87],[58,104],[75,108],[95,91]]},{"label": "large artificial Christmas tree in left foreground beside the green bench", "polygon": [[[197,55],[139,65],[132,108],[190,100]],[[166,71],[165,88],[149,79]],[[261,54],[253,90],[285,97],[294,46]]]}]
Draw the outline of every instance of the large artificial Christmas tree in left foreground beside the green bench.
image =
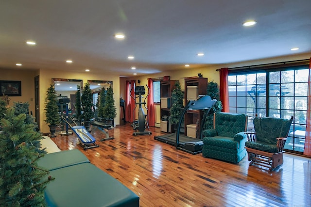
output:
[{"label": "large artificial Christmas tree in left foreground beside the green bench", "polygon": [[43,190],[53,178],[37,166],[45,154],[38,143],[42,136],[25,113],[17,113],[12,107],[1,119],[0,206],[46,206]]}]

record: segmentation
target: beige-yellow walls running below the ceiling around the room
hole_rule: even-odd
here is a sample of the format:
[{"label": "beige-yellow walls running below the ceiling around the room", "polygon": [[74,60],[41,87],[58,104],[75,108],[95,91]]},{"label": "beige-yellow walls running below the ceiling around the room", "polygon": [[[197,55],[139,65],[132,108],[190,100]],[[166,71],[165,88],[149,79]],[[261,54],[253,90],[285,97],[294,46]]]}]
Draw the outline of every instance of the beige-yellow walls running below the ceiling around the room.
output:
[{"label": "beige-yellow walls running below the ceiling around the room", "polygon": [[[270,58],[265,60],[257,60],[257,61],[248,61],[236,64],[222,64],[222,65],[212,65],[209,67],[204,68],[185,68],[182,70],[175,70],[161,72],[157,74],[148,74],[144,76],[135,76],[129,78],[120,78],[116,75],[111,74],[93,74],[93,73],[72,73],[67,72],[65,70],[47,70],[47,69],[40,69],[40,70],[14,70],[14,69],[3,69],[1,68],[1,80],[21,80],[21,90],[22,96],[10,96],[10,106],[13,105],[13,101],[20,101],[20,102],[29,102],[30,103],[30,111],[35,113],[35,85],[34,79],[35,76],[40,76],[39,79],[39,100],[40,100],[40,123],[39,127],[42,133],[48,133],[49,127],[45,123],[45,97],[46,91],[50,84],[52,84],[52,78],[62,78],[62,79],[81,79],[84,83],[87,80],[112,80],[113,81],[113,92],[114,92],[114,99],[115,99],[115,106],[117,108],[117,117],[115,118],[115,124],[120,124],[120,111],[119,111],[119,100],[120,97],[125,99],[125,80],[140,80],[140,84],[145,86],[148,83],[148,78],[158,78],[163,76],[170,76],[171,80],[179,80],[181,83],[182,89],[184,88],[184,78],[186,77],[197,77],[198,73],[201,73],[204,78],[208,78],[208,81],[214,80],[215,82],[219,83],[219,72],[216,72],[216,69],[222,67],[238,67],[238,66],[248,66],[248,65],[255,65],[255,64],[268,64],[268,63],[276,63],[276,62],[285,62],[285,61],[294,61],[294,60],[301,60],[301,59],[309,59],[311,57],[311,53],[306,53],[302,55],[291,55],[291,56],[284,56],[284,57],[277,57],[277,58]],[[155,113],[155,122],[160,123],[160,106],[156,105],[155,111],[150,111]],[[136,113],[137,116],[137,113]]]}]

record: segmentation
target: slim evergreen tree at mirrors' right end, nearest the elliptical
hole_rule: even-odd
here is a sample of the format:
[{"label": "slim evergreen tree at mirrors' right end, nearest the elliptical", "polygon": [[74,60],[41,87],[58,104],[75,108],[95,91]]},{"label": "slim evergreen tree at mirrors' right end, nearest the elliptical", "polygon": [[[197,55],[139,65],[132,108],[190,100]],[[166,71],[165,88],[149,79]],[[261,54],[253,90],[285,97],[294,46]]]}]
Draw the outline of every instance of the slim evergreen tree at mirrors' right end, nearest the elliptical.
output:
[{"label": "slim evergreen tree at mirrors' right end, nearest the elliptical", "polygon": [[107,124],[113,124],[113,119],[117,116],[117,109],[115,107],[115,99],[113,98],[113,89],[111,85],[107,88],[105,96],[105,104],[103,108],[103,117]]}]

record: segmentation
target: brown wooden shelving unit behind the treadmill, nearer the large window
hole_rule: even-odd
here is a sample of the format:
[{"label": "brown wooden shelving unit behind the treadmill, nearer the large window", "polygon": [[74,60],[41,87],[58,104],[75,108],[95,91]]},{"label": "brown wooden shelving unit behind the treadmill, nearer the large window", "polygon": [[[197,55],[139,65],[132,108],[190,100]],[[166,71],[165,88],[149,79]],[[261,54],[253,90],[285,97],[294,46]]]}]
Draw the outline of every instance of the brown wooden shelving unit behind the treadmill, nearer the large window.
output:
[{"label": "brown wooden shelving unit behind the treadmill, nearer the large window", "polygon": [[[188,103],[188,90],[195,90],[195,89],[188,89],[188,86],[193,88],[197,87],[197,95],[206,95],[206,89],[207,89],[207,78],[185,78],[185,106],[187,106]],[[193,93],[191,92],[191,96],[193,96]],[[185,135],[187,135],[187,125],[189,124],[196,124],[198,120],[199,128],[203,119],[203,111],[202,110],[188,110],[185,114]],[[199,137],[201,137],[201,134],[199,134]]]}]

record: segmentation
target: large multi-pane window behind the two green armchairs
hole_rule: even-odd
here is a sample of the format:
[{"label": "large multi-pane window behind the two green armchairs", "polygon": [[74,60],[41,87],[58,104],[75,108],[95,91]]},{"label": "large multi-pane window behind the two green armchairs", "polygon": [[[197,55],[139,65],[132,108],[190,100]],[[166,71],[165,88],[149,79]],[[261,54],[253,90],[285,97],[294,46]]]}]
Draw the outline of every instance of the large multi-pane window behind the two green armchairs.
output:
[{"label": "large multi-pane window behind the two green armchairs", "polygon": [[284,149],[303,152],[306,134],[308,66],[284,67],[255,72],[230,72],[229,110],[248,115],[248,130],[253,118],[278,117],[294,122]]}]

